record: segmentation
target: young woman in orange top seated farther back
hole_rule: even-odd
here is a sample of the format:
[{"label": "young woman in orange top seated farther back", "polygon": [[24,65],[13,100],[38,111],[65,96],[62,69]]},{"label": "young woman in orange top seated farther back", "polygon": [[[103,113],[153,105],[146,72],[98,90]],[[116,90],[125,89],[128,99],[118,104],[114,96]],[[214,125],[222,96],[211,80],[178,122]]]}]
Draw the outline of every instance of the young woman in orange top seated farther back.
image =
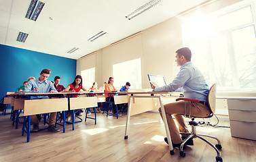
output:
[{"label": "young woman in orange top seated farther back", "polygon": [[[110,101],[111,103],[114,103],[114,94],[109,94],[108,92],[117,91],[115,86],[113,86],[114,78],[109,77],[109,82],[105,84],[105,98],[106,101]],[[113,113],[116,113],[116,109],[113,109]]]}]

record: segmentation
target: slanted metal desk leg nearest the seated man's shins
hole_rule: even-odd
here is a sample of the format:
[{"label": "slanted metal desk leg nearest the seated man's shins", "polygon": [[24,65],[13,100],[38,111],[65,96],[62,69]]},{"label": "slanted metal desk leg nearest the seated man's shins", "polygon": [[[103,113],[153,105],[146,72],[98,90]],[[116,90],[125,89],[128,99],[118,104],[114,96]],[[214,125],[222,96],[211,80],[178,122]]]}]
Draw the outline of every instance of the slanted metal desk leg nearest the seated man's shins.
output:
[{"label": "slanted metal desk leg nearest the seated man's shins", "polygon": [[175,152],[173,151],[172,140],[170,139],[170,131],[169,131],[169,128],[168,128],[166,113],[165,113],[165,110],[164,110],[164,103],[162,102],[162,97],[158,97],[158,99],[159,99],[159,103],[161,105],[162,117],[163,117],[163,120],[164,120],[164,128],[165,128],[167,139],[168,139],[170,155],[174,155]]}]

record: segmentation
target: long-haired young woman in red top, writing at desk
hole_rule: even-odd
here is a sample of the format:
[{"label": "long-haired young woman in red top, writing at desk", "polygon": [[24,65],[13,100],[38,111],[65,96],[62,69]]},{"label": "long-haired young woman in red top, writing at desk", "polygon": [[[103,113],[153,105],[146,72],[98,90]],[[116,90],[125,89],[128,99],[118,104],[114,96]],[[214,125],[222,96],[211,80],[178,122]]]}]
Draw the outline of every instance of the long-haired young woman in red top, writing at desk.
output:
[{"label": "long-haired young woman in red top, writing at desk", "polygon": [[[83,79],[81,78],[81,76],[77,75],[75,76],[75,80],[73,81],[73,83],[69,84],[69,86],[67,86],[67,88],[65,90],[63,90],[63,92],[80,92],[81,90],[87,91],[86,88],[84,88],[83,86]],[[74,94],[73,97],[78,97],[77,94]],[[81,116],[81,112],[83,112],[83,110],[79,109],[75,115],[77,116]],[[67,115],[67,121],[71,121],[71,113],[69,112]]]}]

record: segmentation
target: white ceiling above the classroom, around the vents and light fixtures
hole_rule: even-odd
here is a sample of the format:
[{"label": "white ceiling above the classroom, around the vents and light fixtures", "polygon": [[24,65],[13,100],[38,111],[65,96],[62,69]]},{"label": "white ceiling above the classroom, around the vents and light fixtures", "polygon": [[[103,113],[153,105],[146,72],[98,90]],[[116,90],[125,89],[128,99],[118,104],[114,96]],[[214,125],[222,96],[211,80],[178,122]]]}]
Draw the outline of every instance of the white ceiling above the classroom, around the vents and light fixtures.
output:
[{"label": "white ceiling above the classroom, around the vents and light fixtures", "polygon": [[[0,0],[0,44],[78,59],[206,0],[162,0],[139,16],[126,16],[153,0],[41,0],[36,21],[25,18],[31,0]],[[88,41],[98,32],[103,36]],[[29,34],[24,43],[19,32]],[[73,47],[79,48],[67,53]]]}]

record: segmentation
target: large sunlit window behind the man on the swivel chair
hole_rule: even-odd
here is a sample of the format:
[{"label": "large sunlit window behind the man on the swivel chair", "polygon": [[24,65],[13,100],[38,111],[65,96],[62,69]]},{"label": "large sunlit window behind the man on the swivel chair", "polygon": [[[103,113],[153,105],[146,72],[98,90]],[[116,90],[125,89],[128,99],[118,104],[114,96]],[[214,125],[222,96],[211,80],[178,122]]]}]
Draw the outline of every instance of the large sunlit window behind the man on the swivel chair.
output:
[{"label": "large sunlit window behind the man on the swivel chair", "polygon": [[256,90],[255,4],[242,1],[183,24],[191,61],[218,90]]}]

